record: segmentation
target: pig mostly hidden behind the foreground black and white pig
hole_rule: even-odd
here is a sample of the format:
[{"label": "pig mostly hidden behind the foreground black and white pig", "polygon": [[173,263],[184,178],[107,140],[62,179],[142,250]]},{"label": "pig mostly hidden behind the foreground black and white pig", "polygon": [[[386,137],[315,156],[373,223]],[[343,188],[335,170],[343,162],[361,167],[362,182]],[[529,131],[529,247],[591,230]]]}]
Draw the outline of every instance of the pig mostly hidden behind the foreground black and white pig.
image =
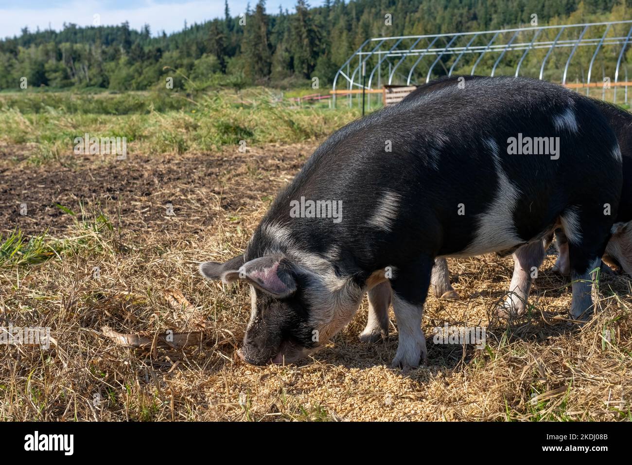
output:
[{"label": "pig mostly hidden behind the foreground black and white pig", "polygon": [[[444,89],[445,87],[453,87],[454,89],[465,89],[466,82],[471,80],[482,79],[482,76],[454,76],[443,77],[428,84],[418,87],[416,90],[408,94],[403,100],[404,103],[415,100],[416,98],[433,92],[435,90]],[[619,108],[608,102],[593,100],[593,103],[599,108],[600,112],[605,116],[617,136],[621,154],[623,156],[623,187],[621,190],[621,199],[619,199],[619,209],[612,227],[612,236],[608,241],[602,259],[605,263],[616,266],[624,271],[624,273],[632,274],[632,114],[624,109]],[[535,258],[545,256],[553,235],[549,235],[542,241],[543,249],[540,250],[537,244],[530,246],[528,251],[534,259],[527,263],[529,266],[535,265]],[[562,275],[570,274],[569,261],[569,244],[568,237],[562,228],[556,230],[556,242],[559,256],[554,266],[554,271]],[[521,314],[526,309],[526,302],[532,285],[532,273],[530,270],[523,270],[521,264],[521,253],[516,251],[514,256],[514,274],[509,286],[510,294],[507,296],[505,308],[507,313]],[[522,260],[524,261],[524,260]],[[602,266],[602,270],[609,270],[607,266]],[[526,271],[526,272],[525,272]],[[434,294],[437,297],[447,299],[457,299],[458,294],[450,284],[449,270],[444,257],[435,259],[435,266],[432,271],[432,286]],[[585,315],[586,316],[586,315]]]}]

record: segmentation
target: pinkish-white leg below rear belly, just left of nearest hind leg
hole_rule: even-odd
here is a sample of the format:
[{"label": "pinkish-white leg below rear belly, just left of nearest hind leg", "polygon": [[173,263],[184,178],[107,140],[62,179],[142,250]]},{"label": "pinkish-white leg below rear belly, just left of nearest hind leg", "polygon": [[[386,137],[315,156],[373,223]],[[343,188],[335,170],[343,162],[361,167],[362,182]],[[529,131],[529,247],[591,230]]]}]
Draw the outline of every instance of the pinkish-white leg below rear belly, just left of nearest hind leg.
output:
[{"label": "pinkish-white leg below rear belly, just left of nearest hind leg", "polygon": [[505,316],[520,315],[525,312],[529,290],[544,255],[544,245],[540,240],[523,245],[514,252],[514,273],[509,285],[509,295],[501,312]]}]

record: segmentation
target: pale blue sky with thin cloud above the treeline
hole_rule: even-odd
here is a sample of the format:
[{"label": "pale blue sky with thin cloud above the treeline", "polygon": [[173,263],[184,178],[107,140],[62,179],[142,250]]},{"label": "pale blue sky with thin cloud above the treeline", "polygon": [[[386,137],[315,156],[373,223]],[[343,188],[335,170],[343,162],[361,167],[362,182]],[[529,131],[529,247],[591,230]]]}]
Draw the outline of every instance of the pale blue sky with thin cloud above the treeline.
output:
[{"label": "pale blue sky with thin cloud above the treeline", "polygon": [[[257,0],[251,0],[254,6]],[[311,0],[311,6],[319,6],[323,0]],[[229,0],[232,16],[246,9],[248,0]],[[279,5],[293,11],[296,0],[267,0],[266,9],[276,13]],[[224,16],[224,0],[0,0],[0,37],[19,35],[21,28],[30,30],[49,27],[59,30],[63,23],[92,25],[95,15],[102,25],[130,22],[130,27],[140,29],[148,23],[152,34],[161,30],[167,33],[181,30],[188,24],[201,23]]]}]

